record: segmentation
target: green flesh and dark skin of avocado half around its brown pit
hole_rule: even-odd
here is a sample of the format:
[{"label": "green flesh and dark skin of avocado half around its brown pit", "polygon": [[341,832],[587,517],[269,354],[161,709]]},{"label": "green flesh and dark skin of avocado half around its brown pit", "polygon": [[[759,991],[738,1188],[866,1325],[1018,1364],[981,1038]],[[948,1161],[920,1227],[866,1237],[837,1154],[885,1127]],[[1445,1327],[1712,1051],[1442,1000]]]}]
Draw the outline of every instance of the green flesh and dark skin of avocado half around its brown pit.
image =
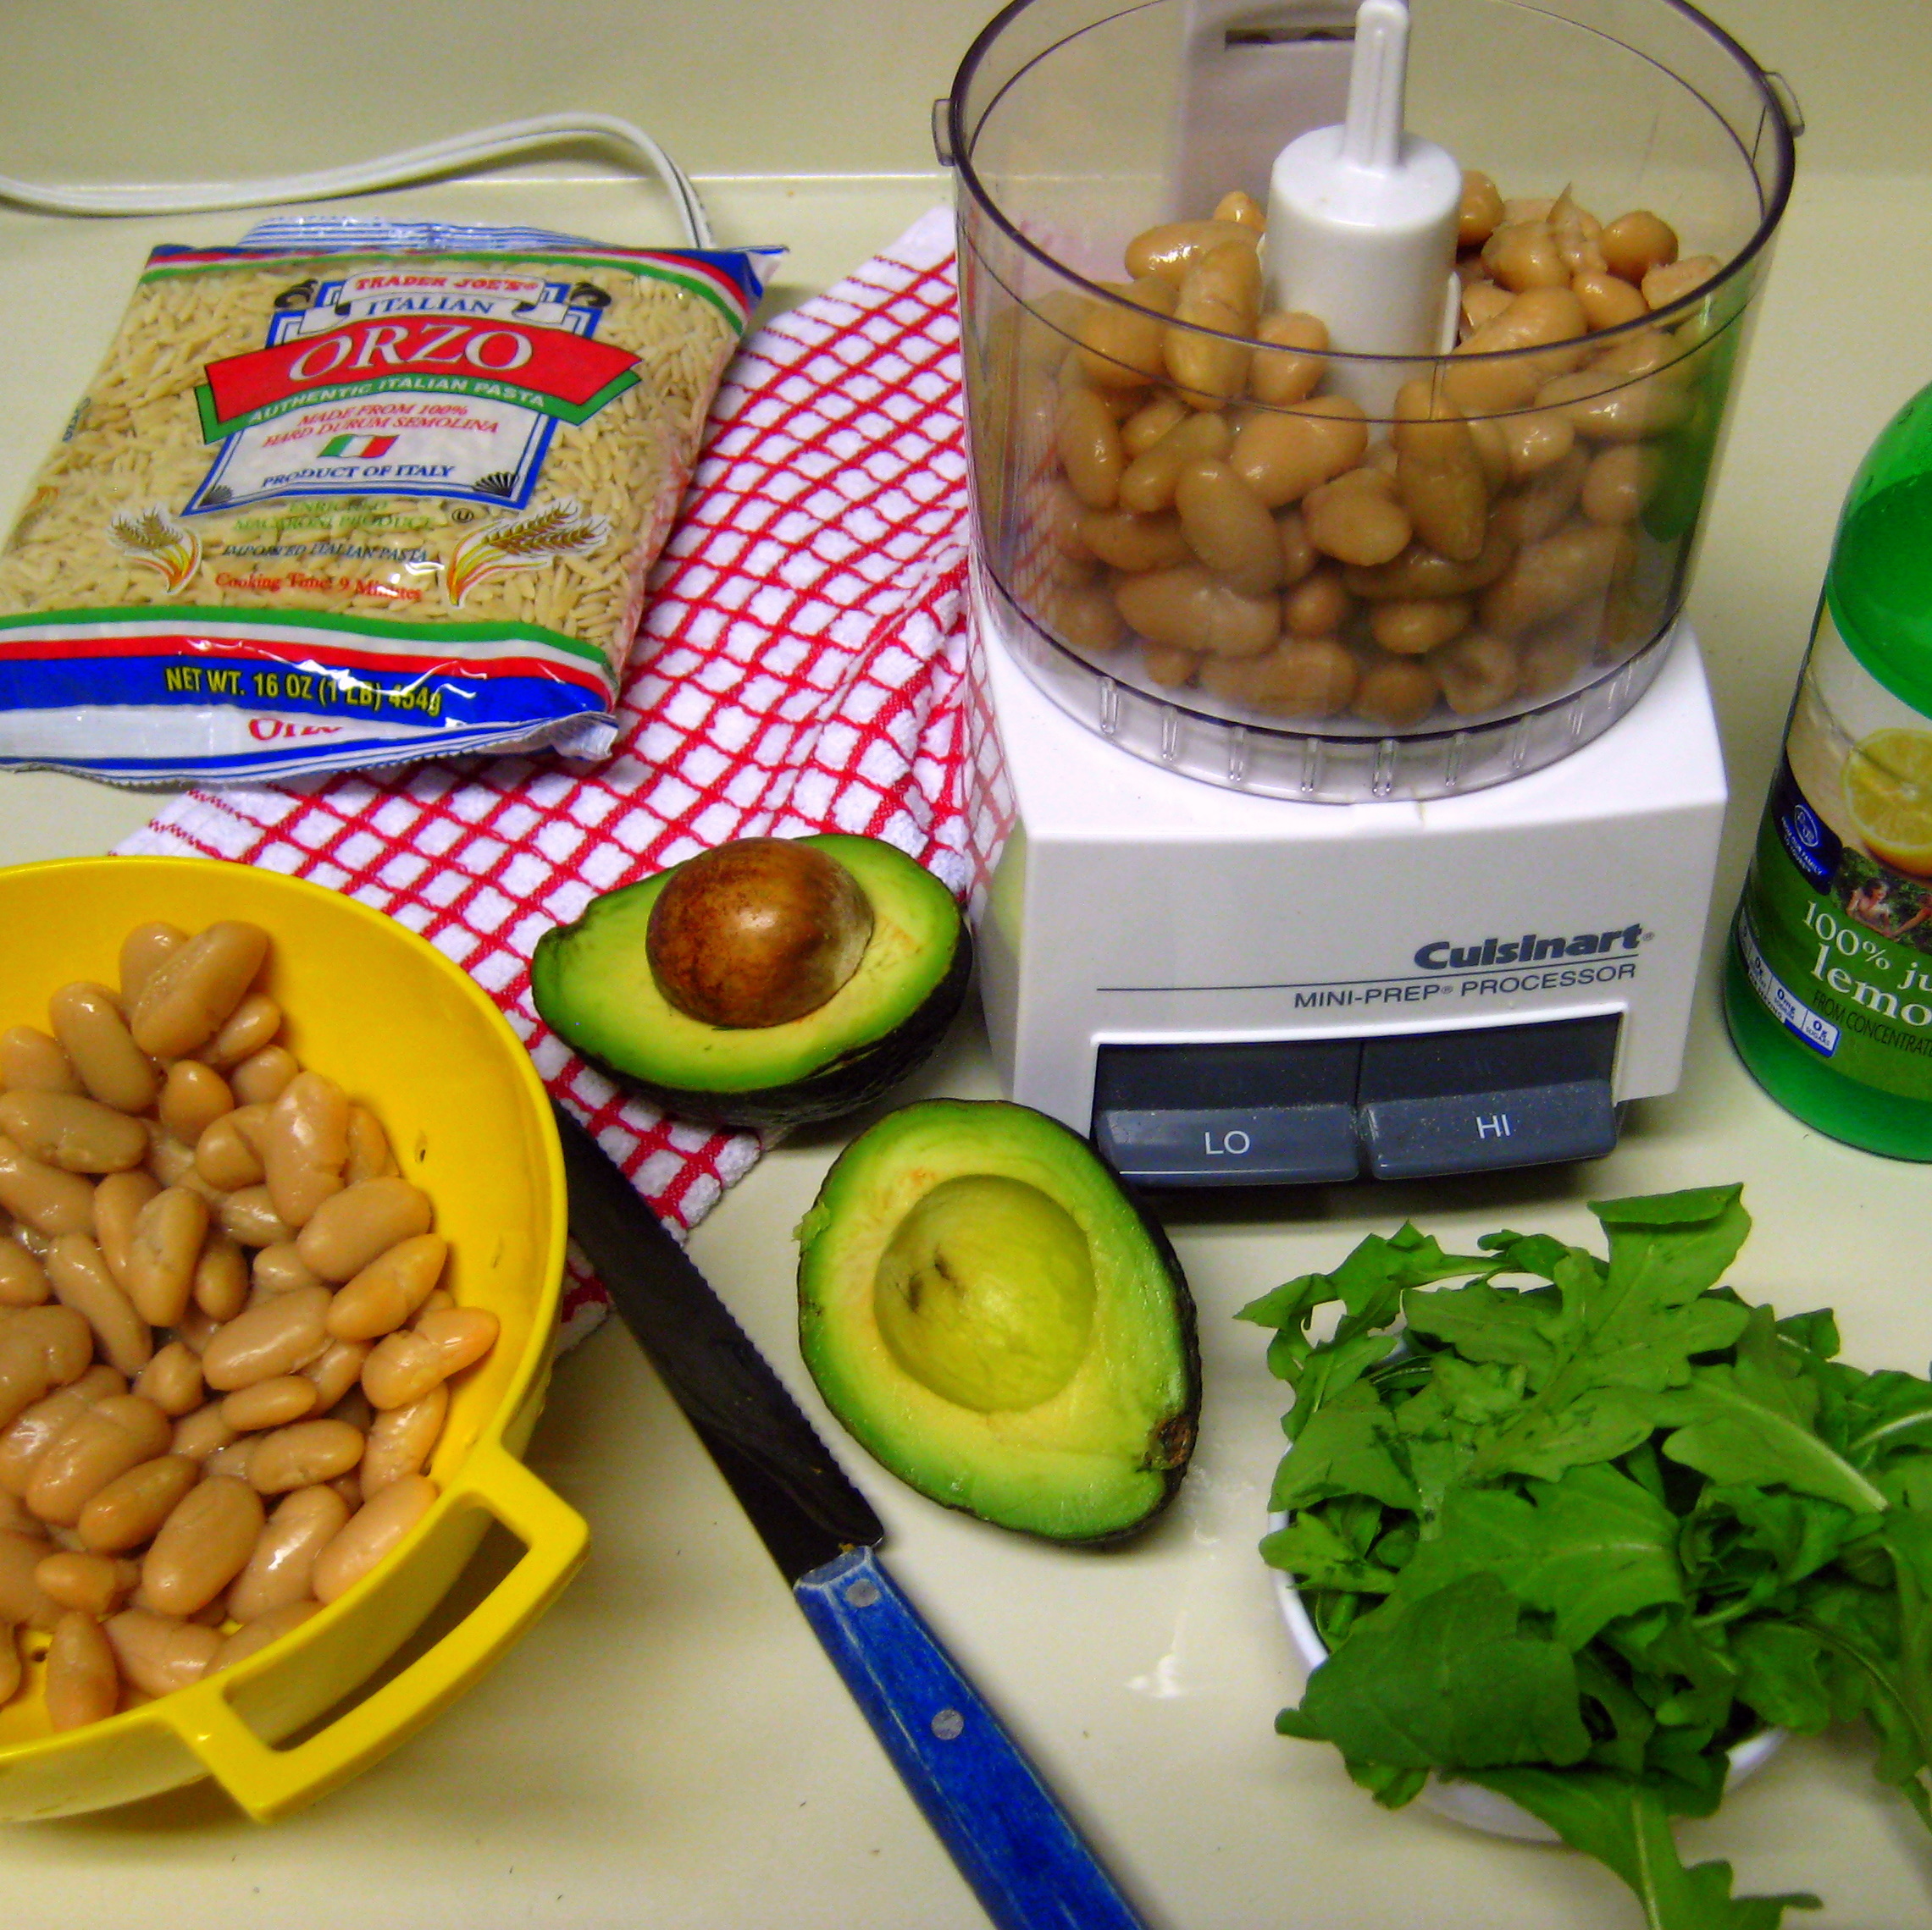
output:
[{"label": "green flesh and dark skin of avocado half around its brown pit", "polygon": [[864,950],[823,1004],[773,1025],[719,1025],[667,996],[651,967],[651,913],[692,867],[734,849],[721,845],[593,897],[574,924],[537,940],[529,988],[545,1025],[655,1106],[711,1125],[804,1125],[885,1094],[933,1052],[966,998],[966,921],[923,865],[879,838],[782,843],[848,872],[871,913]]}]

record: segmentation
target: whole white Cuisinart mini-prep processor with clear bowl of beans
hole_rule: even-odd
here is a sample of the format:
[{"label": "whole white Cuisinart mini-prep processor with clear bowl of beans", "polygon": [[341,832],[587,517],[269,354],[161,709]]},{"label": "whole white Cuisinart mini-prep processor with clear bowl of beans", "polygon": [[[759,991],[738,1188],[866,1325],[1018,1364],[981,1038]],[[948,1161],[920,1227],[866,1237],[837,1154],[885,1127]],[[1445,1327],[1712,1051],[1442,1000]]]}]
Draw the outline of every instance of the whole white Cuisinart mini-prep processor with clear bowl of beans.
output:
[{"label": "whole white Cuisinart mini-prep processor with clear bowl of beans", "polygon": [[935,139],[1012,1098],[1200,1187],[1590,1158],[1671,1090],[1685,593],[1799,131],[1677,0],[980,35]]}]

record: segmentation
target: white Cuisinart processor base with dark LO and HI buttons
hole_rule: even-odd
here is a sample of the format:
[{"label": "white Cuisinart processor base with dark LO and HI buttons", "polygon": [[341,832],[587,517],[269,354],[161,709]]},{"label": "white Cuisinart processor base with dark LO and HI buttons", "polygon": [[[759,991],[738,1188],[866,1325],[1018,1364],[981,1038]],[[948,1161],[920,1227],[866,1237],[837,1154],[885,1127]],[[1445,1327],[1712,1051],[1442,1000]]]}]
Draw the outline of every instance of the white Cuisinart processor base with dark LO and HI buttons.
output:
[{"label": "white Cuisinart processor base with dark LO and HI buttons", "polygon": [[1687,623],[1561,762],[1321,805],[1122,755],[991,598],[980,575],[974,816],[1010,811],[980,946],[1012,1098],[1128,1179],[1204,1187],[1594,1158],[1677,1085],[1725,803]]}]

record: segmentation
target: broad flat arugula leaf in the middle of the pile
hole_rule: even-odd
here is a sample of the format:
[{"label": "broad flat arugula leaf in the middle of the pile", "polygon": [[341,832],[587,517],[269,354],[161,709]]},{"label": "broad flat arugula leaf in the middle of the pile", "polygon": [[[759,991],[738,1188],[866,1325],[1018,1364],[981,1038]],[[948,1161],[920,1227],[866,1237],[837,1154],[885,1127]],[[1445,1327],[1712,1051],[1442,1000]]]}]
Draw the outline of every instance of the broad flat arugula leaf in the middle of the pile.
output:
[{"label": "broad flat arugula leaf in the middle of the pile", "polygon": [[1530,1496],[1451,1490],[1439,1532],[1416,1548],[1381,1613],[1466,1575],[1493,1575],[1526,1608],[1553,1615],[1555,1639],[1577,1650],[1619,1615],[1687,1600],[1677,1519],[1627,1475],[1577,1467],[1530,1482]]}]

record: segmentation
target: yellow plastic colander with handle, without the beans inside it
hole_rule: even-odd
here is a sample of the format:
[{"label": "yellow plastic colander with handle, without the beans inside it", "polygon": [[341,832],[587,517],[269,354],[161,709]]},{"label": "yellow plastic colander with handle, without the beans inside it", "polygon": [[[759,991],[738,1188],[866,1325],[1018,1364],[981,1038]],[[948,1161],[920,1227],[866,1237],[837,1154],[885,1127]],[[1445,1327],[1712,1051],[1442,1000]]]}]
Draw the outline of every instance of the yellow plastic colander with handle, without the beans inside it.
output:
[{"label": "yellow plastic colander with handle, without the beans inside it", "polygon": [[[444,1285],[502,1322],[454,1388],[427,1519],[371,1575],[234,1669],[52,1733],[29,1662],[0,1708],[0,1820],[71,1816],[213,1776],[267,1822],[384,1756],[475,1681],[583,1559],[585,1527],[518,1459],[549,1384],[564,1175],[543,1087],[489,998],[394,921],[276,872],[201,859],[79,859],[0,870],[0,1031],[46,1029],[68,980],[112,984],[124,934],[251,919],[284,1044],[367,1102],[450,1241]],[[516,1565],[408,1668],[357,1698],[497,1521]],[[41,1646],[41,1644],[35,1644]],[[29,1654],[33,1654],[29,1650]],[[292,1747],[278,1747],[317,1723]]]}]

